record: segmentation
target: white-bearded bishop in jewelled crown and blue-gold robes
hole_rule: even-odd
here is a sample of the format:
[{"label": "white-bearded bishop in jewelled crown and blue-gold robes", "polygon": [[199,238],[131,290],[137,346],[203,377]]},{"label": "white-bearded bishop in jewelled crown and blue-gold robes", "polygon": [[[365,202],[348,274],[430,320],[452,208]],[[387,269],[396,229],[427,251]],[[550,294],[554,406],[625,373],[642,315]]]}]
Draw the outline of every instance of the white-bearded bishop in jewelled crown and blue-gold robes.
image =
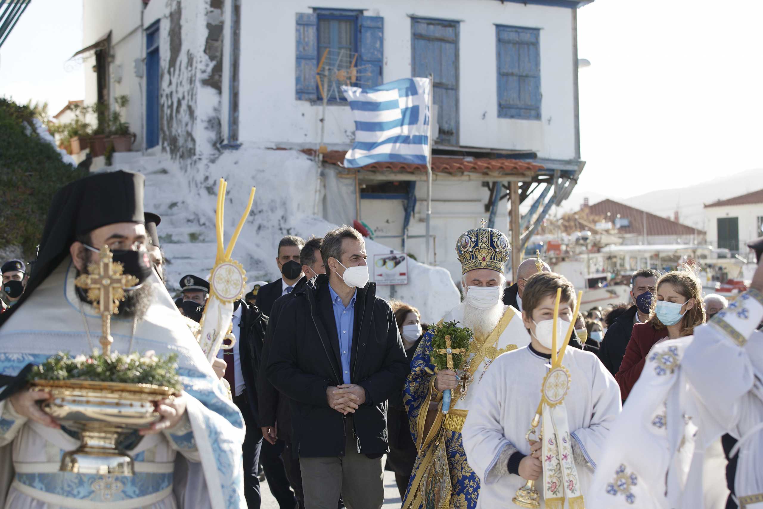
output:
[{"label": "white-bearded bishop in jewelled crown and blue-gold robes", "polygon": [[[462,445],[461,430],[472,398],[482,376],[501,353],[517,350],[530,343],[520,311],[503,304],[506,288],[504,263],[509,243],[499,230],[484,226],[468,230],[459,237],[456,253],[462,268],[464,302],[453,308],[443,320],[468,327],[474,339],[461,369],[437,369],[433,359],[432,332],[419,344],[404,390],[404,401],[414,442],[420,451],[411,474],[403,507],[420,509],[428,504],[474,509],[480,480],[468,466]],[[448,414],[442,413],[443,391],[452,391]],[[423,478],[436,475],[439,441],[444,437],[452,489],[438,501],[429,500]],[[439,506],[438,506],[439,507]]]}]

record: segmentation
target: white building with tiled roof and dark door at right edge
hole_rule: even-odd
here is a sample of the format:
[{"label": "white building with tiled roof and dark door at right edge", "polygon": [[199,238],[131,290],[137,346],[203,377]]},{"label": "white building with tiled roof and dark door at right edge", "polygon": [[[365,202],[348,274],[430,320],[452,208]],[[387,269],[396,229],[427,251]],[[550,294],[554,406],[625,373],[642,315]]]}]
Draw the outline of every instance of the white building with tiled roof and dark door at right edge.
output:
[{"label": "white building with tiled roof and dark door at right edge", "polygon": [[705,205],[707,241],[746,255],[747,243],[763,237],[763,189]]}]

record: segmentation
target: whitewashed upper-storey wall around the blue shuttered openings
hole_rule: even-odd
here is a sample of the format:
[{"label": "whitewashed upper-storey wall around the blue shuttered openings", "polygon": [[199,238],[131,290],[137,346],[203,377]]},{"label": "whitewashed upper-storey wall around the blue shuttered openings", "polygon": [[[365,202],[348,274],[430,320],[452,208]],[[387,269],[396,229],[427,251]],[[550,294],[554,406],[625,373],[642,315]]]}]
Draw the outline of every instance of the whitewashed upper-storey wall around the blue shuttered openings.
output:
[{"label": "whitewashed upper-storey wall around the blue shuttered openings", "polygon": [[[321,106],[295,99],[295,14],[314,2],[242,2],[240,140],[317,143]],[[460,144],[535,150],[552,159],[575,158],[572,54],[568,8],[488,0],[332,0],[330,8],[366,8],[384,18],[385,82],[410,77],[411,18],[462,20],[459,35]],[[540,29],[541,120],[497,118],[494,24]],[[350,143],[353,117],[346,106],[327,108],[326,143]]]}]

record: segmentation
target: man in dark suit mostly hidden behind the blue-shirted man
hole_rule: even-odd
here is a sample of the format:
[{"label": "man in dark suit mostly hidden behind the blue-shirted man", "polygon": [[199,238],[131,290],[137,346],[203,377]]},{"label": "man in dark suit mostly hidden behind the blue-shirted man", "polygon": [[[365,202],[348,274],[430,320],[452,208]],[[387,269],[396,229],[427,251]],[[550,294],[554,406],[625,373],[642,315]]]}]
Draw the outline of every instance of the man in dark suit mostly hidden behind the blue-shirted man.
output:
[{"label": "man in dark suit mostly hidden behind the blue-shirted man", "polygon": [[262,437],[273,446],[282,448],[282,459],[291,488],[294,489],[300,507],[304,507],[302,496],[302,476],[299,468],[299,458],[291,443],[291,411],[288,398],[282,396],[269,382],[266,369],[273,341],[273,333],[278,323],[278,315],[292,298],[301,292],[304,285],[318,274],[325,274],[326,268],[320,257],[320,237],[307,240],[300,252],[300,262],[304,277],[294,287],[294,291],[276,299],[268,320],[268,330],[262,344],[262,361],[259,370],[257,391],[259,392],[259,420],[262,426]]}]

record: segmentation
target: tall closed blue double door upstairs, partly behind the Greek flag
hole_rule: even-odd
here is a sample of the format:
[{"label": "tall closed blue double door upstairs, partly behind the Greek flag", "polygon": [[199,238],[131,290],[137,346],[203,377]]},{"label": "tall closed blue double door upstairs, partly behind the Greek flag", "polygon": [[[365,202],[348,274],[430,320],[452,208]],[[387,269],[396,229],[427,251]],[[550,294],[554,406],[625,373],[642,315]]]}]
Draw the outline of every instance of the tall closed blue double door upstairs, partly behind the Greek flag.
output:
[{"label": "tall closed blue double door upstairs, partly behind the Greek flag", "polygon": [[414,78],[434,78],[438,145],[459,144],[459,22],[413,18]]}]

